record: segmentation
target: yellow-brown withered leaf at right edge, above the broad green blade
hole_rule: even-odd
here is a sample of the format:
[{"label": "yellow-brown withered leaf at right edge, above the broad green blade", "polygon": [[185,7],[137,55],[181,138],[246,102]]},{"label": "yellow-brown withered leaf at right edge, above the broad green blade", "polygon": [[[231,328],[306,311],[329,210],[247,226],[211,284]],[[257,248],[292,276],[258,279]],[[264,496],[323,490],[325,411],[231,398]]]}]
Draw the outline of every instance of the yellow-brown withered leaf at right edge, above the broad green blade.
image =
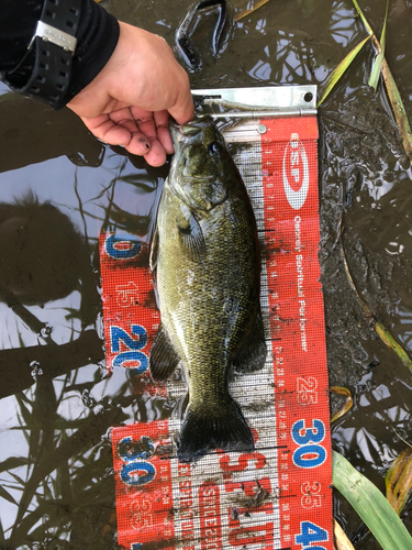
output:
[{"label": "yellow-brown withered leaf at right edge, above the broad green blade", "polygon": [[393,461],[385,477],[387,498],[399,515],[412,492],[412,449],[407,448]]}]

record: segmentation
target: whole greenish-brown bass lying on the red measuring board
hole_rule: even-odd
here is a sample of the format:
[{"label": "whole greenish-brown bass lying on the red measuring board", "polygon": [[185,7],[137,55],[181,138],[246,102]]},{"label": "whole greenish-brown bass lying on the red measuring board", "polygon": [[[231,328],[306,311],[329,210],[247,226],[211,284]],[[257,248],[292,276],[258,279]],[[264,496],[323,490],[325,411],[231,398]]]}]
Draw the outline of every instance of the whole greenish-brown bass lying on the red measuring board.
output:
[{"label": "whole greenish-brown bass lying on the red measuring board", "polygon": [[191,462],[213,449],[254,449],[229,373],[260,369],[266,344],[256,222],[237,168],[209,118],[171,134],[152,245],[162,324],[149,365],[165,381],[182,362],[189,403],[178,458]]}]

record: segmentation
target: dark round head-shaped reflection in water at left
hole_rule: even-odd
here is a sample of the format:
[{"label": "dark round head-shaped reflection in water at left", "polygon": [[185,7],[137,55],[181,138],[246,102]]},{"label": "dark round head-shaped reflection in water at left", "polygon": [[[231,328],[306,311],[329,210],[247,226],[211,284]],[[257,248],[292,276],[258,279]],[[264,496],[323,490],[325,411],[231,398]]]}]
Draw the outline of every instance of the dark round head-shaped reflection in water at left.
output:
[{"label": "dark round head-shaped reflection in water at left", "polygon": [[[0,202],[0,300],[40,305],[65,298],[81,286],[88,295],[90,261],[86,243],[60,210],[29,194]],[[85,324],[96,310],[79,311]]]}]

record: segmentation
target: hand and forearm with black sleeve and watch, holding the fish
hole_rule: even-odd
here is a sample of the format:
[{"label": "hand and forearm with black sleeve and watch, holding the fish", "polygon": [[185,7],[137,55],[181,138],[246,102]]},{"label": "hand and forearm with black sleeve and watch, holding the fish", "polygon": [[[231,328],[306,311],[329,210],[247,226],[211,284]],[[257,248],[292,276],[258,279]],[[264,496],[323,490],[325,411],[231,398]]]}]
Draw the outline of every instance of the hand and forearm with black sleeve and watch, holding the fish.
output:
[{"label": "hand and forearm with black sleeve and watch, holding the fish", "polygon": [[67,105],[97,138],[152,166],[166,162],[169,116],[185,124],[194,108],[189,77],[160,36],[118,23],[93,0],[0,2],[1,79],[55,109]]}]

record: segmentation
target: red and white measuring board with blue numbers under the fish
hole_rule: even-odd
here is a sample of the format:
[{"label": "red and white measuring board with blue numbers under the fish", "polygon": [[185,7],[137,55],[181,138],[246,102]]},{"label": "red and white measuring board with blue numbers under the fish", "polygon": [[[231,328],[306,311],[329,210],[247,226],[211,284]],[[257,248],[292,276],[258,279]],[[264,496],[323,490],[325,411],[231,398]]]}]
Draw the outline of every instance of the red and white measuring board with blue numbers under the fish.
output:
[{"label": "red and white measuring board with blue numbers under the fish", "polygon": [[[238,144],[234,160],[250,197],[263,250],[260,302],[267,359],[261,371],[230,384],[256,450],[216,451],[180,463],[179,419],[154,417],[113,428],[120,548],[333,550],[329,384],[318,260],[318,122],[314,99],[309,100],[312,111],[303,112],[299,105],[308,102],[308,89],[313,92],[313,88],[293,87],[290,94],[298,97],[293,99],[298,108],[281,106],[280,114],[257,97],[265,112],[223,129],[226,143]],[[277,89],[285,95],[289,87]],[[243,98],[238,102],[247,103]],[[223,116],[227,118],[219,112],[215,118]],[[102,235],[101,273],[108,367],[127,369],[135,391],[147,399],[163,396],[178,404],[186,393],[182,376],[155,384],[148,371],[159,312],[147,245],[133,235]]]}]

